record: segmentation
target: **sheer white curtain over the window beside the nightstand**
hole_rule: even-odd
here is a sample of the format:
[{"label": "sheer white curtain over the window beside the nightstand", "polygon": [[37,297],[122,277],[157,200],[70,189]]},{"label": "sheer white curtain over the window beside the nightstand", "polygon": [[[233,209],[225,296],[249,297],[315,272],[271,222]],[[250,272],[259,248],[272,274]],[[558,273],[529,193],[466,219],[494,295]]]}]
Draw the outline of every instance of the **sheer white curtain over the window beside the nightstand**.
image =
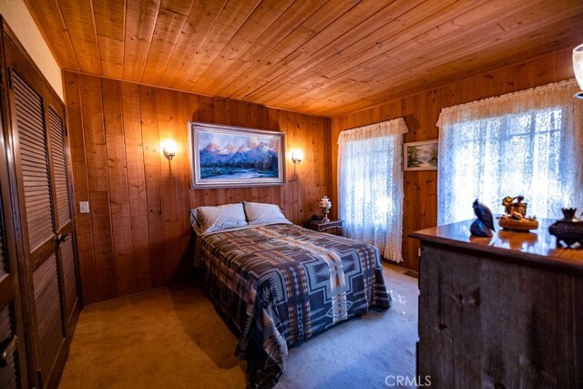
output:
[{"label": "sheer white curtain over the window beside the nightstand", "polygon": [[338,198],[343,231],[403,261],[403,118],[353,128],[338,138]]}]

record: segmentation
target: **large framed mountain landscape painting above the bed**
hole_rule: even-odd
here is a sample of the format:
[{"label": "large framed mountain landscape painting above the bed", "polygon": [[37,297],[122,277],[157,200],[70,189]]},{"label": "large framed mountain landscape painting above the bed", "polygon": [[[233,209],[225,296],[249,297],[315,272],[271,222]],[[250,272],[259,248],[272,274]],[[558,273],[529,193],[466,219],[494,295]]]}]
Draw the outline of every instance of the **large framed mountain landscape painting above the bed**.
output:
[{"label": "large framed mountain landscape painting above the bed", "polygon": [[278,131],[190,122],[191,188],[283,185],[284,136]]}]

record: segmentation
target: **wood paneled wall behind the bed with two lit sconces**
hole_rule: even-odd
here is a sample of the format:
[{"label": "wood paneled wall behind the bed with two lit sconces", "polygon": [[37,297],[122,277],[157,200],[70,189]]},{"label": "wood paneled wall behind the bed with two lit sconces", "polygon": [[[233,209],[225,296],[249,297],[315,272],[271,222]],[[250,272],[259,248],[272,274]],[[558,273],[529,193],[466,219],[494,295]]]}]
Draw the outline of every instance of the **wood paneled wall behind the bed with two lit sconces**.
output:
[{"label": "wood paneled wall behind the bed with two lit sconces", "polygon": [[[77,200],[79,267],[85,303],[164,285],[189,272],[189,210],[241,200],[279,204],[303,223],[332,195],[329,118],[65,73],[68,131]],[[286,184],[249,189],[189,189],[189,120],[281,130]],[[160,142],[172,138],[169,161]],[[90,213],[78,212],[89,201]]]}]

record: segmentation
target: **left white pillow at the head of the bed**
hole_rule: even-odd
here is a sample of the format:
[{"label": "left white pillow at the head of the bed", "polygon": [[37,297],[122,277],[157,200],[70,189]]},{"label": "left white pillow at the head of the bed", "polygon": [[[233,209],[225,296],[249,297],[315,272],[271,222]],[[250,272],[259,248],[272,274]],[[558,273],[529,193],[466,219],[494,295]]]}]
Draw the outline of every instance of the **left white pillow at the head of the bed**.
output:
[{"label": "left white pillow at the head of the bed", "polygon": [[247,225],[243,205],[225,204],[217,207],[198,207],[190,210],[192,227],[199,235],[213,231],[235,229]]}]

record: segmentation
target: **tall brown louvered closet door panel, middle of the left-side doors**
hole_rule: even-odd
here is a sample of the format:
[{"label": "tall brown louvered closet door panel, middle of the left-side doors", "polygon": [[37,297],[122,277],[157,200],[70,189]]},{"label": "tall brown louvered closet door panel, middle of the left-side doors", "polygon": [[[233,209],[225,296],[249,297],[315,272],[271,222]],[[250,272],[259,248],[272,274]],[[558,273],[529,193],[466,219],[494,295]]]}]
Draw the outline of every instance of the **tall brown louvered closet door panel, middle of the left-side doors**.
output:
[{"label": "tall brown louvered closet door panel, middle of the left-side doors", "polygon": [[[34,289],[33,326],[35,362],[39,385],[44,386],[65,338],[63,305],[59,288],[55,201],[52,195],[47,151],[46,109],[43,99],[15,72],[12,73],[17,141],[15,168],[20,193],[25,250],[29,252]],[[14,130],[13,130],[14,131]]]}]

